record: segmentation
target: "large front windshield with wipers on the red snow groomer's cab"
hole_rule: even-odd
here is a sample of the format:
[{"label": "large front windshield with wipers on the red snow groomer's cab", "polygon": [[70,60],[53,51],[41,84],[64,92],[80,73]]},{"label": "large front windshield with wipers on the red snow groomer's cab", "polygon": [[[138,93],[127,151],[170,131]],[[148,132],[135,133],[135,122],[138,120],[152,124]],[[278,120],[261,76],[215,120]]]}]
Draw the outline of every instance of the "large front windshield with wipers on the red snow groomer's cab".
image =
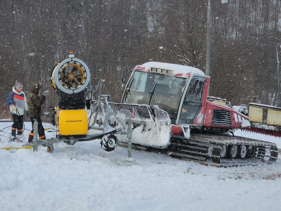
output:
[{"label": "large front windshield with wipers on the red snow groomer's cab", "polygon": [[158,105],[167,111],[171,120],[175,120],[186,81],[187,79],[179,77],[135,71],[122,103],[148,105],[153,91],[150,105]]}]

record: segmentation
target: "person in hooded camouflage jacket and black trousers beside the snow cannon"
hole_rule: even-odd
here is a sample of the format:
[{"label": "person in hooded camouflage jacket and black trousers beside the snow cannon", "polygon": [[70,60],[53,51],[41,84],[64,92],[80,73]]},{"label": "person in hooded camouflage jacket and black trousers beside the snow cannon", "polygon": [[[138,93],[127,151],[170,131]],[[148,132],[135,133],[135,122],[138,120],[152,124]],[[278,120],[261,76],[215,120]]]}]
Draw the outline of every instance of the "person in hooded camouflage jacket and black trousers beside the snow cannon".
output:
[{"label": "person in hooded camouflage jacket and black trousers beside the snow cannon", "polygon": [[46,96],[49,94],[49,91],[44,91],[44,93],[42,94],[42,97],[40,98],[38,96],[38,94],[40,93],[40,84],[34,84],[31,91],[28,93],[28,112],[29,112],[29,116],[30,116],[30,120],[32,123],[32,130],[29,133],[29,137],[28,137],[28,142],[32,142],[33,140],[33,124],[34,121],[37,120],[38,122],[38,134],[39,134],[39,139],[46,139],[46,135],[45,135],[45,130],[44,127],[42,125],[42,120],[40,118],[41,116],[41,106],[43,105]]}]

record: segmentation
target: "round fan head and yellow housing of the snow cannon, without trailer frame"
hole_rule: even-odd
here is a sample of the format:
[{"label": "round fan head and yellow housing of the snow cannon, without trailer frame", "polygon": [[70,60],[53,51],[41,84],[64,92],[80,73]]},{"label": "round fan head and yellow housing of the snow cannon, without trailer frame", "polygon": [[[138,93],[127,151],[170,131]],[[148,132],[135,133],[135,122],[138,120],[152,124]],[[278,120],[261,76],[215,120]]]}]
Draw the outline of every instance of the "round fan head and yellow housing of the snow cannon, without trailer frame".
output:
[{"label": "round fan head and yellow housing of the snow cannon, without trailer frame", "polygon": [[84,137],[88,133],[84,96],[90,82],[88,66],[75,58],[73,51],[69,51],[68,59],[53,68],[51,82],[59,96],[52,115],[52,124],[58,126],[59,136]]}]

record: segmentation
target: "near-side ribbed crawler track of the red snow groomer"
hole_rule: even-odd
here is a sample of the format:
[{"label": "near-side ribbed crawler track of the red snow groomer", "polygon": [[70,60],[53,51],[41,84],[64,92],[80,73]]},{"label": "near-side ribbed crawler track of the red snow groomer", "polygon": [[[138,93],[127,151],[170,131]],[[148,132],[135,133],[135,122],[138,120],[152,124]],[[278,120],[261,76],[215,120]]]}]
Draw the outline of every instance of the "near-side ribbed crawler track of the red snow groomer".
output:
[{"label": "near-side ribbed crawler track of the red snow groomer", "polygon": [[[256,152],[248,159],[221,159],[220,149],[227,144],[252,145]],[[209,150],[212,147],[212,150]],[[210,154],[211,152],[211,154]],[[197,161],[201,164],[233,167],[256,166],[275,163],[278,156],[276,144],[231,135],[192,134],[189,139],[174,135],[168,147],[168,154],[184,160]]]}]

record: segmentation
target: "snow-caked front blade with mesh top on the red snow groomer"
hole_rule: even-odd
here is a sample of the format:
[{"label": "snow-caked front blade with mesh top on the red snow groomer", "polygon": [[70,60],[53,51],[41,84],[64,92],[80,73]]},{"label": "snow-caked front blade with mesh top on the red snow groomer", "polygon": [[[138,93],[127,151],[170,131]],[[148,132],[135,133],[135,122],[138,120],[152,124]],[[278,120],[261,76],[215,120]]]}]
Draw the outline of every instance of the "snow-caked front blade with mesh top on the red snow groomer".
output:
[{"label": "snow-caked front blade with mesh top on the red snow groomer", "polygon": [[[95,108],[98,101],[91,101],[92,108]],[[164,147],[170,144],[171,120],[166,111],[157,106],[109,103],[117,117],[127,128],[127,120],[130,118],[133,126],[132,143],[145,146]],[[95,127],[104,127],[106,104],[101,103],[98,111]],[[92,118],[95,113],[92,114]],[[92,122],[90,122],[91,124]],[[109,125],[115,129],[121,127],[114,116],[109,118]],[[126,135],[116,134],[118,141],[128,142]]]}]

